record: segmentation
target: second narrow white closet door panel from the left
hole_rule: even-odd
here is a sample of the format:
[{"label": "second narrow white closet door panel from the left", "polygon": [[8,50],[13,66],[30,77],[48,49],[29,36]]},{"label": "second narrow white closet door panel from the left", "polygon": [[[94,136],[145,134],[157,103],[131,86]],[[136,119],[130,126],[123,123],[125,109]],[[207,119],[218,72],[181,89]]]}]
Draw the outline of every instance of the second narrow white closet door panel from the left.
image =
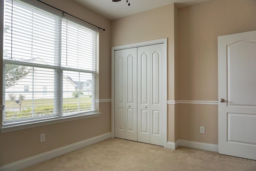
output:
[{"label": "second narrow white closet door panel from the left", "polygon": [[125,50],[126,139],[137,141],[137,48]]}]

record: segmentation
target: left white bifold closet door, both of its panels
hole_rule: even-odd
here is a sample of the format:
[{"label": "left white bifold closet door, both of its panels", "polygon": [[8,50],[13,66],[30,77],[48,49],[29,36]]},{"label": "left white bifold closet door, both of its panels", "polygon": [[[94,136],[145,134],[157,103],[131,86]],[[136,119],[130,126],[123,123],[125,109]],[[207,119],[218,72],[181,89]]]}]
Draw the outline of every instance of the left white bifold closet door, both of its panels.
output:
[{"label": "left white bifold closet door, both of its panels", "polygon": [[115,137],[137,141],[137,48],[115,51]]}]

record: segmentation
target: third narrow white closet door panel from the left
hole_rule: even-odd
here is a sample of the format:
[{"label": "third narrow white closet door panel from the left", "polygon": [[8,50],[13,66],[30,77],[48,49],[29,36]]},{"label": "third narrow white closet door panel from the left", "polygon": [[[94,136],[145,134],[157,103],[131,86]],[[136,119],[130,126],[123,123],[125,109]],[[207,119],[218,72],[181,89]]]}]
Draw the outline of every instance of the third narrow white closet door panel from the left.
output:
[{"label": "third narrow white closet door panel from the left", "polygon": [[138,48],[138,141],[150,143],[150,46]]}]

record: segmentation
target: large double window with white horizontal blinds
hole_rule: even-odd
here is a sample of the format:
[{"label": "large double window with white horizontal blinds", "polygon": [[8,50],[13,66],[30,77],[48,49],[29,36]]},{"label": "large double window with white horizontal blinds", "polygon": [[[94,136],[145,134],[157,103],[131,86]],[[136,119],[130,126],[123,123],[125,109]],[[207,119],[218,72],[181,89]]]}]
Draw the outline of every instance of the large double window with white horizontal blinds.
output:
[{"label": "large double window with white horizontal blinds", "polygon": [[95,112],[97,36],[62,15],[5,0],[3,125]]}]

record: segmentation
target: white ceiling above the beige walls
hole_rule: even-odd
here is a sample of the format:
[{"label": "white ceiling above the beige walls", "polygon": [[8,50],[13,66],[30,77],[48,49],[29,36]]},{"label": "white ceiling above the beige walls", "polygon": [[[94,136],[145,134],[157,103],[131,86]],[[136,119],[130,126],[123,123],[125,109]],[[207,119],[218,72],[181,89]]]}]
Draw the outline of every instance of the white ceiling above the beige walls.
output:
[{"label": "white ceiling above the beige walls", "polygon": [[[138,12],[150,10],[167,4],[176,3],[178,8],[190,6],[208,0],[130,0],[130,6],[126,0],[112,2],[112,0],[73,0],[78,4],[108,18],[115,20]],[[128,0],[129,1],[129,0]]]}]

